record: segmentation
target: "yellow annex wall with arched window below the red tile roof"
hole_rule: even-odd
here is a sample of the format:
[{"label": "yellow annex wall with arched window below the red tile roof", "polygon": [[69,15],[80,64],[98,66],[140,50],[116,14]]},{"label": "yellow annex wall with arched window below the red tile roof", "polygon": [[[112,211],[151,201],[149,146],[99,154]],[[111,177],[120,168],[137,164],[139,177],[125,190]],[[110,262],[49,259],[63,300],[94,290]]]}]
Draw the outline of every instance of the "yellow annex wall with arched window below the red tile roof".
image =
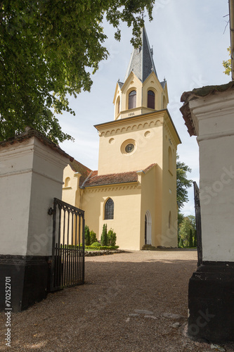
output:
[{"label": "yellow annex wall with arched window below the red tile roof", "polygon": [[[82,204],[86,225],[100,239],[103,224],[117,234],[120,249],[140,249],[141,187],[138,184],[90,187],[84,190]],[[114,201],[114,219],[105,220],[105,201]]]}]

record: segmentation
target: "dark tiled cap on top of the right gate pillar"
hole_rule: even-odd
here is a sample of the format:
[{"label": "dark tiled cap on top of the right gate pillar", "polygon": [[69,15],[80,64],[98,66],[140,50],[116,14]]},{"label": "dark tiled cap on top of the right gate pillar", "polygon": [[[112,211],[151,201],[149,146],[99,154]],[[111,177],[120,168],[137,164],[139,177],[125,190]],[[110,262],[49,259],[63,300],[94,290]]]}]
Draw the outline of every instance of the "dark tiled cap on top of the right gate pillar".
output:
[{"label": "dark tiled cap on top of the right gate pillar", "polygon": [[234,81],[229,82],[228,84],[205,86],[202,88],[193,89],[193,91],[190,92],[183,92],[181,95],[181,102],[183,103],[183,106],[181,106],[180,111],[183,115],[183,119],[185,120],[185,125],[188,128],[188,133],[190,136],[197,136],[198,134],[190,109],[190,101],[195,99],[204,99],[204,97],[209,95],[219,94],[231,89],[234,89]]}]

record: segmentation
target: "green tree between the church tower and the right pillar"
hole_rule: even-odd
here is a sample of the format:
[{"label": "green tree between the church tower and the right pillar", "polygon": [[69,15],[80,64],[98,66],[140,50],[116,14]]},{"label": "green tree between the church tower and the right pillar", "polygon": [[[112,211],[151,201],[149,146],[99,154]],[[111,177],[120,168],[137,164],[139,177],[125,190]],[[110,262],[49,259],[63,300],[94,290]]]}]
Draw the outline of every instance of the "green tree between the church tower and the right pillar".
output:
[{"label": "green tree between the church tower and the right pillar", "polygon": [[191,169],[185,163],[181,163],[176,156],[176,191],[178,210],[183,208],[183,203],[188,202],[188,188],[192,186],[192,180],[187,179],[187,172]]}]

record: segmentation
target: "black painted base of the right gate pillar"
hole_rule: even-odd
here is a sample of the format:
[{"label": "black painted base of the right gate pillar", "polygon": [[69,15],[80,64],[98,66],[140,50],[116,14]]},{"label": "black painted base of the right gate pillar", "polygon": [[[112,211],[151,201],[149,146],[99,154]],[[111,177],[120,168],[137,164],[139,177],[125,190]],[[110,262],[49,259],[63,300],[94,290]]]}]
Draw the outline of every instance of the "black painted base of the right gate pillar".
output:
[{"label": "black painted base of the right gate pillar", "polygon": [[234,263],[203,262],[188,285],[188,334],[234,341]]}]

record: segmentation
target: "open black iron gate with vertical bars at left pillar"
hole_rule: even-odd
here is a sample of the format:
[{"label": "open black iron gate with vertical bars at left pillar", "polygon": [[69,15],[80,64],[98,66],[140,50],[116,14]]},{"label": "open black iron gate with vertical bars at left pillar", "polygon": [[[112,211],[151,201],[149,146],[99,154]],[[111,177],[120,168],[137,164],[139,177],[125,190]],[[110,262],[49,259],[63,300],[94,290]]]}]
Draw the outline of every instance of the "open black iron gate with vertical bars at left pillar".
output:
[{"label": "open black iron gate with vertical bars at left pillar", "polygon": [[51,291],[84,284],[84,210],[53,199]]}]

